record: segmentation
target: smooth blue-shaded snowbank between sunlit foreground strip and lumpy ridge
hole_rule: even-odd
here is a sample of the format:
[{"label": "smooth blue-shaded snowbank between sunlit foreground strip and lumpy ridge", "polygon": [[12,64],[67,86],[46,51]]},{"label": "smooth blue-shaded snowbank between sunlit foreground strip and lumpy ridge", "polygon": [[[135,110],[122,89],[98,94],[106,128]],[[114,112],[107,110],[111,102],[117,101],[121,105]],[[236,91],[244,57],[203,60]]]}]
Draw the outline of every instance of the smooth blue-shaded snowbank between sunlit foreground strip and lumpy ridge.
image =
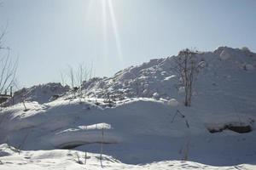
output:
[{"label": "smooth blue-shaded snowbank between sunlit foreground strip and lumpy ridge", "polygon": [[[254,130],[208,131],[210,127],[240,122],[254,129],[256,116],[250,110],[232,112],[232,108],[229,111],[226,107],[214,110],[210,105],[188,109],[154,99],[125,100],[113,108],[80,99],[26,105],[29,111],[23,111],[21,104],[2,111],[1,143],[21,150],[73,149],[100,153],[103,142],[103,154],[129,164],[181,160],[187,147],[189,161],[208,165],[234,166],[256,160]],[[176,116],[173,120],[177,110],[184,117]]]}]

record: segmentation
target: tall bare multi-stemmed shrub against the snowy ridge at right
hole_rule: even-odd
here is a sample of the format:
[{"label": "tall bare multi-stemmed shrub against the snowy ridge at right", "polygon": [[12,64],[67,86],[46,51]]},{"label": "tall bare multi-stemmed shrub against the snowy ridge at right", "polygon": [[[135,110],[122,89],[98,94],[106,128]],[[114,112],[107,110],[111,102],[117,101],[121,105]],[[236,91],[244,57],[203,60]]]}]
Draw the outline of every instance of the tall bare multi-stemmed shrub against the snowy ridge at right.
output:
[{"label": "tall bare multi-stemmed shrub against the snowy ridge at right", "polygon": [[180,51],[177,57],[174,57],[174,62],[175,67],[173,70],[182,78],[185,88],[184,105],[190,106],[195,76],[201,68],[200,62],[196,57],[196,52],[188,48]]}]

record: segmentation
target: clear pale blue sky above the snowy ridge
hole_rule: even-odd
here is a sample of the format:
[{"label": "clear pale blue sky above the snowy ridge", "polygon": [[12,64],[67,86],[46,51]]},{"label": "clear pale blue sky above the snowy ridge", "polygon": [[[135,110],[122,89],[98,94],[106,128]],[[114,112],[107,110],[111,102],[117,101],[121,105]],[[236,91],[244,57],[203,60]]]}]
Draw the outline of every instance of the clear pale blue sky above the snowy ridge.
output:
[{"label": "clear pale blue sky above the snowy ridge", "polygon": [[256,51],[255,0],[3,0],[7,25],[23,86],[61,81],[79,63],[108,77],[182,48]]}]

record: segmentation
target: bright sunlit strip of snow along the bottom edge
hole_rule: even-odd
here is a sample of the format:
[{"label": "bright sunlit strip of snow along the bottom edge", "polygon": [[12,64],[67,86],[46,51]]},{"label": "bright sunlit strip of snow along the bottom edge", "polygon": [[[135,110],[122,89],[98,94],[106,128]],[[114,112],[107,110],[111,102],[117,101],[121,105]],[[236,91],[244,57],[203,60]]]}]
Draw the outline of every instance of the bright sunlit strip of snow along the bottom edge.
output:
[{"label": "bright sunlit strip of snow along the bottom edge", "polygon": [[[129,165],[122,163],[112,156],[102,156],[99,154],[85,153],[75,150],[37,150],[20,151],[8,146],[0,145],[0,169],[4,170],[45,170],[45,169],[68,169],[68,170],[95,170],[95,169],[253,169],[256,166],[241,164],[232,167],[212,167],[192,161],[158,161],[145,165]],[[79,157],[79,158],[78,158]]]}]

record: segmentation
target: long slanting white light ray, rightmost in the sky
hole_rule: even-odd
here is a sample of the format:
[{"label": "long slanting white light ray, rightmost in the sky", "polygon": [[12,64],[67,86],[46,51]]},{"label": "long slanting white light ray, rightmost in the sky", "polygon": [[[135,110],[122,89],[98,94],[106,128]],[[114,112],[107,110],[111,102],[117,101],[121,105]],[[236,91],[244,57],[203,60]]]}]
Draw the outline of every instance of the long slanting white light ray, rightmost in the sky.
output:
[{"label": "long slanting white light ray, rightmost in the sky", "polygon": [[108,8],[109,8],[109,12],[110,12],[110,18],[112,21],[113,34],[114,34],[114,38],[115,38],[115,42],[116,42],[116,46],[117,46],[119,59],[121,61],[121,64],[123,64],[123,55],[122,55],[121,43],[120,43],[120,39],[119,39],[119,31],[118,31],[118,27],[117,27],[117,22],[115,20],[115,15],[113,13],[112,0],[107,0],[107,1],[108,1]]}]

